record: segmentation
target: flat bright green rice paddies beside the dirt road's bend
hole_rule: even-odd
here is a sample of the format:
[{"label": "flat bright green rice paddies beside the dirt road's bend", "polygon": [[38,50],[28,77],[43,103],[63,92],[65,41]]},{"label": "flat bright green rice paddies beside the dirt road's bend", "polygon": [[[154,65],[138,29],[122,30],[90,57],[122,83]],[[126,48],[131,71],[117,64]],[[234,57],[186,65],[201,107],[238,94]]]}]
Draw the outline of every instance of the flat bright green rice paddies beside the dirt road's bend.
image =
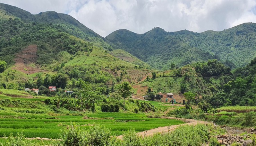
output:
[{"label": "flat bright green rice paddies beside the dirt road's bend", "polygon": [[89,128],[91,125],[104,125],[107,128],[111,128],[113,136],[122,135],[125,131],[132,128],[139,132],[184,123],[179,120],[147,118],[144,114],[135,113],[97,113],[87,114],[86,117],[70,115],[51,117],[34,114],[29,118],[19,115],[19,118],[0,118],[0,137],[10,133],[16,135],[18,132],[23,131],[26,137],[57,139],[61,128],[69,125],[70,121],[76,122],[84,129]]}]

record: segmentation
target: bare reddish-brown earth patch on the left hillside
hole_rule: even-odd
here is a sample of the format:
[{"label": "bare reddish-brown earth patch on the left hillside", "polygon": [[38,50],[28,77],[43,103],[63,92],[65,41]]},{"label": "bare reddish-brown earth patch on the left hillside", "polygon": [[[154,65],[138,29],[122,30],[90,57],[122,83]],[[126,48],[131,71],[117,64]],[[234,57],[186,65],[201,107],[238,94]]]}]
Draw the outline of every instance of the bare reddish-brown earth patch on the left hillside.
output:
[{"label": "bare reddish-brown earth patch on the left hillside", "polygon": [[26,74],[33,74],[37,72],[42,72],[44,70],[40,69],[39,65],[35,64],[35,67],[29,66],[34,64],[37,60],[37,45],[29,45],[22,52],[19,52],[14,59],[15,66],[12,69],[24,72]]}]

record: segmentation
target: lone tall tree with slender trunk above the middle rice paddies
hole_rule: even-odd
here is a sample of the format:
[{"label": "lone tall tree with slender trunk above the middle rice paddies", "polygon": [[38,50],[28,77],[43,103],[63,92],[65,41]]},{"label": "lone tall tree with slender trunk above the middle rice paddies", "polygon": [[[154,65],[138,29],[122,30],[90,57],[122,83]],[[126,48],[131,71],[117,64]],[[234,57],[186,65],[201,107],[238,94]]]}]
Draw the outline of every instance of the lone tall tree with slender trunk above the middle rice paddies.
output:
[{"label": "lone tall tree with slender trunk above the middle rice paddies", "polygon": [[120,92],[123,97],[123,107],[125,107],[125,98],[131,95],[131,90],[133,89],[129,82],[123,82],[121,84],[116,85],[116,89]]}]

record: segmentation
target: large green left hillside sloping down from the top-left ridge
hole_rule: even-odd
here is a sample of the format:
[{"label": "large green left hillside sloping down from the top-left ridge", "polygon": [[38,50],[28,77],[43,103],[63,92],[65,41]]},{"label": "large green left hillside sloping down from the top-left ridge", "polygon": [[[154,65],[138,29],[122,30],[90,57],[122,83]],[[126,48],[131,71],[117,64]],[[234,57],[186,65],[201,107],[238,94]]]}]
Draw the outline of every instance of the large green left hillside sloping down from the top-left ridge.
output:
[{"label": "large green left hillside sloping down from the top-left ridge", "polygon": [[[150,68],[135,57],[126,62],[110,55],[112,47],[104,38],[69,15],[32,15],[7,4],[0,4],[0,13],[0,60],[7,63],[0,74],[2,89],[57,86],[78,91],[89,86],[107,95],[115,84],[142,79]],[[44,91],[40,94],[52,94]]]}]

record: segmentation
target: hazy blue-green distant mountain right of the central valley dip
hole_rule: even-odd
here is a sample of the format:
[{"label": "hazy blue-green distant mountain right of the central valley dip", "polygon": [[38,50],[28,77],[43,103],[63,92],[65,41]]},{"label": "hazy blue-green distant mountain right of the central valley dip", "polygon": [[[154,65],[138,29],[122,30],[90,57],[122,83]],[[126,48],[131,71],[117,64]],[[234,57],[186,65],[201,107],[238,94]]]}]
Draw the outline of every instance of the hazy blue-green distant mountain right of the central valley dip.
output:
[{"label": "hazy blue-green distant mountain right of the central valley dip", "polygon": [[245,23],[223,31],[166,32],[154,28],[144,34],[121,29],[106,36],[114,49],[124,49],[156,69],[171,64],[218,59],[231,68],[245,66],[256,56],[256,24]]}]

